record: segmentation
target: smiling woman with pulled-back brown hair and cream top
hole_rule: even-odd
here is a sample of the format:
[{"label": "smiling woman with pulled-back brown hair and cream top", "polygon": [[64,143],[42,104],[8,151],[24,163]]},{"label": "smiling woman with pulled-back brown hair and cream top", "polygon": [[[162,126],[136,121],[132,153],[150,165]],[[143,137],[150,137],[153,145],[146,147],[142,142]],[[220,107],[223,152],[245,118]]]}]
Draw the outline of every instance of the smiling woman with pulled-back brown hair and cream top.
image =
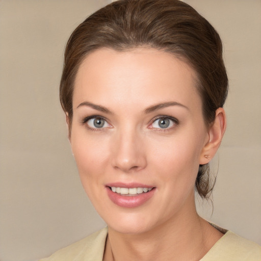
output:
[{"label": "smiling woman with pulled-back brown hair and cream top", "polygon": [[65,50],[60,99],[83,187],[108,228],[45,260],[261,260],[200,218],[226,128],[215,29],[176,0],[117,1]]}]

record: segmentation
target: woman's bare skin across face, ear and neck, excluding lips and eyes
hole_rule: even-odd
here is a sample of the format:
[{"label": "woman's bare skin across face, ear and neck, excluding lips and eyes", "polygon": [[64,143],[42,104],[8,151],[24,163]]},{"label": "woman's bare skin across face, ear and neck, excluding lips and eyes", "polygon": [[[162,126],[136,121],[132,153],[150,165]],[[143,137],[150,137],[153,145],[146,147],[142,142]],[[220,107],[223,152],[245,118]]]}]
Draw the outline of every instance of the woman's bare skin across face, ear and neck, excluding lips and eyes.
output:
[{"label": "woman's bare skin across face, ear and neck, excluding lips and eyes", "polygon": [[[207,128],[195,83],[188,64],[153,48],[102,48],[81,64],[69,139],[83,187],[108,224],[105,260],[199,260],[223,236],[197,215],[194,184],[221,143],[225,113],[219,108]],[[166,102],[178,104],[155,108]],[[84,122],[93,115],[106,119],[102,128]],[[175,120],[163,129],[162,116]],[[155,192],[141,206],[120,207],[108,197],[110,182]]]}]

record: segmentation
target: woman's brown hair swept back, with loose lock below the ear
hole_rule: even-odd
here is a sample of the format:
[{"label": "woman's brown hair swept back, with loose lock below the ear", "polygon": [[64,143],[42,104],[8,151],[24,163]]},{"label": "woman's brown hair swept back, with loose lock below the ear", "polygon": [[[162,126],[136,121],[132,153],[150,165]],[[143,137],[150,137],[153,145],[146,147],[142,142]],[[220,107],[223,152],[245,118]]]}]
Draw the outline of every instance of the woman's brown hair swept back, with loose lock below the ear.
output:
[{"label": "woman's brown hair swept back, with loose lock below the ear", "polygon": [[[140,46],[166,51],[196,71],[195,88],[202,99],[205,124],[211,126],[228,91],[222,42],[216,30],[195,9],[178,0],[120,0],[90,15],[66,45],[60,100],[68,115],[69,135],[75,76],[85,57],[102,47],[124,51]],[[210,196],[213,185],[208,164],[199,166],[195,186],[202,198]]]}]

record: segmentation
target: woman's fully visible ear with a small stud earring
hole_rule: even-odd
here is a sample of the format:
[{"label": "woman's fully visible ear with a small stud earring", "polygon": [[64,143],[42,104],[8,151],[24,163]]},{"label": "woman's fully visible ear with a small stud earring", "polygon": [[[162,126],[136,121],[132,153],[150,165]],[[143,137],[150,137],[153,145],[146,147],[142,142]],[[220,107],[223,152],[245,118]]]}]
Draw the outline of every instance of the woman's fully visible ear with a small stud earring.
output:
[{"label": "woman's fully visible ear with a small stud earring", "polygon": [[216,154],[226,130],[226,115],[223,108],[216,110],[215,121],[208,129],[208,141],[203,147],[199,164],[207,164]]}]

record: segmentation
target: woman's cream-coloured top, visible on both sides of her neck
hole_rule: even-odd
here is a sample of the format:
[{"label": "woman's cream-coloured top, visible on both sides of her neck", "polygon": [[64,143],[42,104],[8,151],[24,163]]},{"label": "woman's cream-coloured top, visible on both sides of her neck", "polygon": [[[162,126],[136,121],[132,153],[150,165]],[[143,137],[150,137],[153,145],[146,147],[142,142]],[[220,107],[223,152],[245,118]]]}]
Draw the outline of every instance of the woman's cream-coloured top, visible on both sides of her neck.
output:
[{"label": "woman's cream-coloured top, visible on both sides of her neck", "polygon": [[[225,234],[200,261],[261,261],[261,247],[256,243],[215,227]],[[40,261],[102,261],[107,234],[106,227]]]}]

